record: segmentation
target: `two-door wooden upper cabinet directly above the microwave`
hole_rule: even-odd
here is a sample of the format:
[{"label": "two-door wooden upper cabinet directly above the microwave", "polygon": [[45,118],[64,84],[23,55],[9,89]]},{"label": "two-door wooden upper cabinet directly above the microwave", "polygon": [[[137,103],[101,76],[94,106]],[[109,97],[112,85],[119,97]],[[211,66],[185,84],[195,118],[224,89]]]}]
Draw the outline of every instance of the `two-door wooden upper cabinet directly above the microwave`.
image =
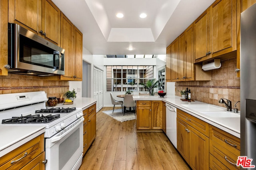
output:
[{"label": "two-door wooden upper cabinet directly above the microwave", "polygon": [[51,0],[9,0],[9,22],[60,46],[60,10]]}]

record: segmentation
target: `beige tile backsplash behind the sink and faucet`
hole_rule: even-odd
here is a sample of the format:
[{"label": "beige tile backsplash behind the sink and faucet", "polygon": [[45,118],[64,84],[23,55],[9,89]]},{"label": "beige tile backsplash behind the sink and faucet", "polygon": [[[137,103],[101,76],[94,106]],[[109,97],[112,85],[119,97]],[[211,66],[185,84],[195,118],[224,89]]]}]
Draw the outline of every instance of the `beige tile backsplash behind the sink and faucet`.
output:
[{"label": "beige tile backsplash behind the sink and faucet", "polygon": [[[191,99],[208,104],[225,107],[220,104],[220,98],[232,101],[232,108],[236,101],[240,101],[240,77],[236,76],[236,58],[221,61],[221,67],[212,70],[212,80],[210,81],[188,81],[175,83],[175,95],[181,96],[178,90],[191,91]],[[240,110],[240,103],[237,108]]]}]

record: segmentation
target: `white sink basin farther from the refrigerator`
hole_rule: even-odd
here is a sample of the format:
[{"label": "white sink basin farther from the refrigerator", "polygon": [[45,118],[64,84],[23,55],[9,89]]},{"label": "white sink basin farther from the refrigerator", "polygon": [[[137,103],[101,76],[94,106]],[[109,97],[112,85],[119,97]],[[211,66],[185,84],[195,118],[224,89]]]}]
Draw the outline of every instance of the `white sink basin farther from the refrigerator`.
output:
[{"label": "white sink basin farther from the refrigerator", "polygon": [[182,106],[188,107],[195,111],[225,111],[225,108],[213,106],[210,104],[182,104]]}]

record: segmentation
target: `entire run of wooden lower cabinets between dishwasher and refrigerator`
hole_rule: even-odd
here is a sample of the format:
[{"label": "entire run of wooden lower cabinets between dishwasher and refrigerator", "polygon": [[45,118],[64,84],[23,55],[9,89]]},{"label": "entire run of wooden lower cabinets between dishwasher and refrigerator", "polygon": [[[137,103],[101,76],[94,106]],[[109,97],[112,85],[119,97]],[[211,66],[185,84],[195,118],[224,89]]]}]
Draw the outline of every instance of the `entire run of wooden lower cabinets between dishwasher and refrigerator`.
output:
[{"label": "entire run of wooden lower cabinets between dishwasher and refrigerator", "polygon": [[240,139],[177,109],[177,150],[193,170],[239,170]]}]

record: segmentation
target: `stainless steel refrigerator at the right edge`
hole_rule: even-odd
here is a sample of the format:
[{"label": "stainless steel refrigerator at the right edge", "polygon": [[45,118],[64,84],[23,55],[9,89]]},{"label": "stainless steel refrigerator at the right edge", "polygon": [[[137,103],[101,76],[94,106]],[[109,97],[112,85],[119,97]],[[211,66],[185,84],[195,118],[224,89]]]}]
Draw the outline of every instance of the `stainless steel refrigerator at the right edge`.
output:
[{"label": "stainless steel refrigerator at the right edge", "polygon": [[241,13],[241,156],[256,165],[256,4]]}]

